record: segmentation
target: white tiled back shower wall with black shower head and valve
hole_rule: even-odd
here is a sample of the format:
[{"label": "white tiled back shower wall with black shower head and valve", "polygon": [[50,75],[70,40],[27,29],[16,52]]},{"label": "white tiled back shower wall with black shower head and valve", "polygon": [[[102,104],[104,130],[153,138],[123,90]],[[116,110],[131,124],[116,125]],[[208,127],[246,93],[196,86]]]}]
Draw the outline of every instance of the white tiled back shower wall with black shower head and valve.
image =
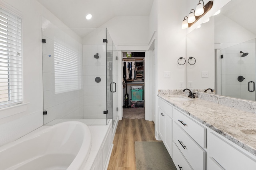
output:
[{"label": "white tiled back shower wall with black shower head and valve", "polygon": [[[84,118],[103,118],[106,110],[106,45],[83,45]],[[98,53],[99,59],[94,55]],[[100,83],[95,82],[96,77]]]}]

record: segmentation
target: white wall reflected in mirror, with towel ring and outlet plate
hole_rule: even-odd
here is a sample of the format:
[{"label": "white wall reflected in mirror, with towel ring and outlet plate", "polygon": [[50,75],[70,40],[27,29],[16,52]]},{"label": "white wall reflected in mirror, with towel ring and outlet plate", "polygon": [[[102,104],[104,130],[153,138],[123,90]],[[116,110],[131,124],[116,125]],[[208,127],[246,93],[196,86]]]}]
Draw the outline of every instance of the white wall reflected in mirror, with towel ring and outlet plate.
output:
[{"label": "white wall reflected in mirror, with towel ring and outlet plate", "polygon": [[[214,57],[214,18],[194,29],[187,35],[187,88],[190,89],[214,89],[215,57]],[[190,65],[188,62],[196,63]],[[189,61],[188,61],[189,59]],[[208,77],[202,77],[202,71],[208,72]],[[190,86],[192,84],[192,86]]]}]

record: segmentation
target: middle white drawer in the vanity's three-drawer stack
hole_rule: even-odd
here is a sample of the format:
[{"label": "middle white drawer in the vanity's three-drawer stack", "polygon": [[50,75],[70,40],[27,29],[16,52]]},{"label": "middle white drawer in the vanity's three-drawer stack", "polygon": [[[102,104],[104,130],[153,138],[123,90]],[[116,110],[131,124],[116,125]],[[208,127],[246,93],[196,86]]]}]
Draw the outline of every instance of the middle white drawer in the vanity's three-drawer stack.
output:
[{"label": "middle white drawer in the vanity's three-drawer stack", "polygon": [[205,170],[206,151],[186,134],[177,123],[173,123],[173,141],[194,170]]}]

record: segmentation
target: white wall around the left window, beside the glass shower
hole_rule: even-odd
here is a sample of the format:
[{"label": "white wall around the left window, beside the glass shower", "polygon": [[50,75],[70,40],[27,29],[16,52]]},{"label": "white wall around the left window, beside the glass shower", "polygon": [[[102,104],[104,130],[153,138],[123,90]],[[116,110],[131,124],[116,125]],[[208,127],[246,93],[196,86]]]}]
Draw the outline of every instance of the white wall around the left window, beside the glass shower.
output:
[{"label": "white wall around the left window, beside the glass shower", "polygon": [[63,23],[36,0],[1,0],[0,4],[10,5],[22,15],[23,101],[29,103],[26,111],[0,119],[0,145],[3,145],[43,125],[42,16],[56,25]]}]

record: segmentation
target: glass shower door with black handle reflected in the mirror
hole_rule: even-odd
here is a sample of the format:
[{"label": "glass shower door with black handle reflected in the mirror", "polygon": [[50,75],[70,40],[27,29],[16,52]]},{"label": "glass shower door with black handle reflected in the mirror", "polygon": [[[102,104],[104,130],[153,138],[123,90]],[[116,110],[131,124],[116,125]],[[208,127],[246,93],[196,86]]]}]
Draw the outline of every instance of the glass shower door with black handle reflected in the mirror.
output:
[{"label": "glass shower door with black handle reflected in the mirror", "polygon": [[255,101],[255,39],[221,50],[221,95]]}]

